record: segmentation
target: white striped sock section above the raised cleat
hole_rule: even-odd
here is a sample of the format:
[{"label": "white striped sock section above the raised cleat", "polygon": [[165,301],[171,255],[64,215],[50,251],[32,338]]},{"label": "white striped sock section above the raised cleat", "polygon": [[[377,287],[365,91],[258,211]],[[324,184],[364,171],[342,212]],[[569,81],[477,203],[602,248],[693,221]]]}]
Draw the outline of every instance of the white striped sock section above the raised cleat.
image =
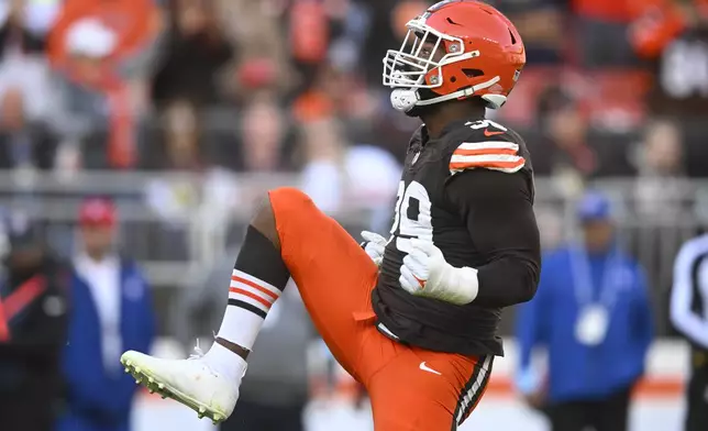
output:
[{"label": "white striped sock section above the raised cleat", "polygon": [[270,307],[281,294],[277,287],[234,269],[229,288],[229,306],[217,336],[253,350]]}]

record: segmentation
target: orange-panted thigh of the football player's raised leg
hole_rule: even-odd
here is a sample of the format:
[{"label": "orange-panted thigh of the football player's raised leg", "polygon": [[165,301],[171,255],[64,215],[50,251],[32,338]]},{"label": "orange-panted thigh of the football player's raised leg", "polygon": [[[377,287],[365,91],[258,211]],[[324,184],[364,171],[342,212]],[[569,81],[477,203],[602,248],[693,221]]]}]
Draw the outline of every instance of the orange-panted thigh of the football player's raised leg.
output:
[{"label": "orange-panted thigh of the football player's raised leg", "polygon": [[[361,379],[362,338],[372,318],[378,267],[359,244],[305,194],[270,191],[280,252],[318,332],[338,362]],[[357,369],[357,366],[358,369]]]}]

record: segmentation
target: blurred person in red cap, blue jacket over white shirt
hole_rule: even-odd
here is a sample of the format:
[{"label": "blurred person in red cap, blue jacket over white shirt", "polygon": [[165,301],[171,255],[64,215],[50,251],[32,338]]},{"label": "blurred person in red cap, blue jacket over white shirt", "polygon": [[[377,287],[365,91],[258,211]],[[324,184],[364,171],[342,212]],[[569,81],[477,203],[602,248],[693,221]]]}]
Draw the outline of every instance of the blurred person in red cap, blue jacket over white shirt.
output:
[{"label": "blurred person in red cap, blue jacket over white shirt", "polygon": [[58,431],[128,431],[136,394],[123,372],[125,349],[147,351],[154,336],[148,286],[137,266],[113,252],[115,209],[89,199],[79,212],[71,310],[63,371],[66,408]]}]

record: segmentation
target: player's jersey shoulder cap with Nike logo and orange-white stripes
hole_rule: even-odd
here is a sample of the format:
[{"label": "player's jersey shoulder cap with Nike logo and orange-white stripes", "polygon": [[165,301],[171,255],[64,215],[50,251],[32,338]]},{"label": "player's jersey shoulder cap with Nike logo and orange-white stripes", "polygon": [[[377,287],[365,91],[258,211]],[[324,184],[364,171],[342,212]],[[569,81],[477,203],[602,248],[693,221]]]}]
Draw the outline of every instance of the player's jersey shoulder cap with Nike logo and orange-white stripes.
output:
[{"label": "player's jersey shoulder cap with Nike logo and orange-white stripes", "polygon": [[450,157],[450,174],[466,169],[490,169],[507,174],[519,172],[526,159],[519,154],[519,144],[501,124],[490,120],[469,122],[465,142],[456,145]]}]

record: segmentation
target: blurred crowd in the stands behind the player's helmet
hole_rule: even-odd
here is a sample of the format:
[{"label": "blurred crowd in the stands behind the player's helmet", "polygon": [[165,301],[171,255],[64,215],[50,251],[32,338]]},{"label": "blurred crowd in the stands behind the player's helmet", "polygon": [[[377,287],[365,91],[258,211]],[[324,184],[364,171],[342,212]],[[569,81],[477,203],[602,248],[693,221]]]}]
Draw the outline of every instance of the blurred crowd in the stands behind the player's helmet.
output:
[{"label": "blurred crowd in the stands behind the player's helmet", "polygon": [[[355,145],[400,161],[416,121],[390,110],[381,58],[428,3],[5,0],[0,167],[291,172]],[[539,175],[708,176],[708,2],[490,3],[527,45],[498,117]]]}]

